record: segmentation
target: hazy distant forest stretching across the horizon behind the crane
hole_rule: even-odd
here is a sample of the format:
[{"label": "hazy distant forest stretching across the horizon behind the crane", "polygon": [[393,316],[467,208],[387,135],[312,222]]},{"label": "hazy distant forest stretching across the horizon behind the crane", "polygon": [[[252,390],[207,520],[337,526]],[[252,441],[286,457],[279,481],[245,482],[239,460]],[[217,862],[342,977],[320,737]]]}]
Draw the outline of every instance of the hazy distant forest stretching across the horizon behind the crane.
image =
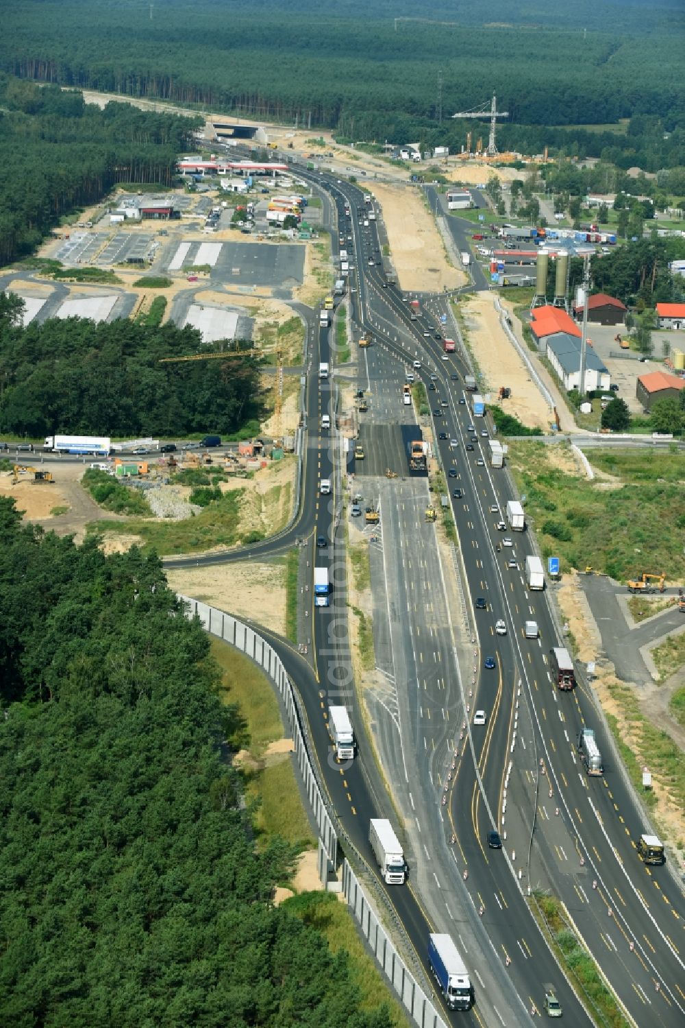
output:
[{"label": "hazy distant forest stretching across the horizon behind the crane", "polygon": [[[582,28],[580,28],[582,27]],[[575,144],[635,150],[621,135],[529,131],[662,119],[653,160],[685,163],[682,10],[669,2],[573,5],[408,0],[181,0],[163,16],[132,2],[46,0],[7,12],[0,67],[22,77],[334,128],[354,140],[425,137],[458,148],[487,124],[451,121],[489,101],[496,69],[502,143],[525,152]],[[586,30],[586,31],[583,31]],[[439,123],[439,69],[442,111]],[[257,70],[257,73],[256,73]],[[669,138],[664,139],[663,136]],[[653,149],[653,146],[652,148]],[[578,152],[576,150],[575,152]],[[619,161],[620,162],[620,161]],[[624,167],[630,167],[626,163]],[[646,166],[645,166],[646,167]],[[649,169],[651,170],[651,169]]]}]

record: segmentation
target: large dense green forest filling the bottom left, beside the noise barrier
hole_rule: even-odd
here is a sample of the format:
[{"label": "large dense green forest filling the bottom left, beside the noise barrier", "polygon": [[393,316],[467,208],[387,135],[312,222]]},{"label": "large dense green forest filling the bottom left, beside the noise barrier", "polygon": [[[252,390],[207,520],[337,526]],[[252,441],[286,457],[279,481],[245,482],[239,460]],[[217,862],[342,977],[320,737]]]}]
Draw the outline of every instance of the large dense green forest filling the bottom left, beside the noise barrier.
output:
[{"label": "large dense green forest filling the bottom left, beside the noise barrier", "polygon": [[295,854],[252,841],[222,756],[244,726],[159,560],[6,498],[0,536],[2,1023],[386,1028],[270,903]]}]

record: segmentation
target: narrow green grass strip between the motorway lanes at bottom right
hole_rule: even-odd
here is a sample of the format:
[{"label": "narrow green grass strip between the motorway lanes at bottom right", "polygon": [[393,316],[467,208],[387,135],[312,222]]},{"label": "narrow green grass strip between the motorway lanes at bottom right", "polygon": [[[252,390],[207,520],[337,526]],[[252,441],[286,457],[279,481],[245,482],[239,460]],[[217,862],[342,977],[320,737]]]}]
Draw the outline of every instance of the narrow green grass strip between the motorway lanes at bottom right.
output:
[{"label": "narrow green grass strip between the motorway lanes at bottom right", "polygon": [[[602,1023],[629,1028],[613,993],[607,989],[591,954],[566,921],[562,905],[547,893],[535,892],[530,903],[533,917],[545,932],[575,992],[594,1007]],[[599,1020],[599,1018],[598,1018]]]}]

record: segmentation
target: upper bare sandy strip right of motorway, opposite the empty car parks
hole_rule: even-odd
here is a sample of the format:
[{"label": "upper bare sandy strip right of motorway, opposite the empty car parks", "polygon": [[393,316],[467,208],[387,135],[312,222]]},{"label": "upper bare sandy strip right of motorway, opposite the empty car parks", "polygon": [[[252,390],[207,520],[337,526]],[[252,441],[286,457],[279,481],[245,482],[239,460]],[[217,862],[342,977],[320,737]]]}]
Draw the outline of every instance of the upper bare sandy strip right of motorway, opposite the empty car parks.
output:
[{"label": "upper bare sandy strip right of motorway, opposite the empty car parks", "polygon": [[441,293],[458,289],[465,273],[453,267],[423,195],[411,187],[379,185],[370,188],[383,211],[392,263],[401,289]]}]

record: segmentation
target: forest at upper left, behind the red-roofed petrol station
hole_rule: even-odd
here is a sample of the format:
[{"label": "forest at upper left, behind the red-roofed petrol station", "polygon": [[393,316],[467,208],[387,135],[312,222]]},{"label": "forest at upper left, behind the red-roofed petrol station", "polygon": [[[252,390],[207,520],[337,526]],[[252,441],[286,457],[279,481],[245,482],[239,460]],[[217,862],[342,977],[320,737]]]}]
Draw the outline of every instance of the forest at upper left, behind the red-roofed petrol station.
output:
[{"label": "forest at upper left, behind the red-roofed petrol station", "polygon": [[63,215],[117,182],[167,186],[195,119],[104,110],[80,93],[0,75],[0,264],[31,253]]}]

